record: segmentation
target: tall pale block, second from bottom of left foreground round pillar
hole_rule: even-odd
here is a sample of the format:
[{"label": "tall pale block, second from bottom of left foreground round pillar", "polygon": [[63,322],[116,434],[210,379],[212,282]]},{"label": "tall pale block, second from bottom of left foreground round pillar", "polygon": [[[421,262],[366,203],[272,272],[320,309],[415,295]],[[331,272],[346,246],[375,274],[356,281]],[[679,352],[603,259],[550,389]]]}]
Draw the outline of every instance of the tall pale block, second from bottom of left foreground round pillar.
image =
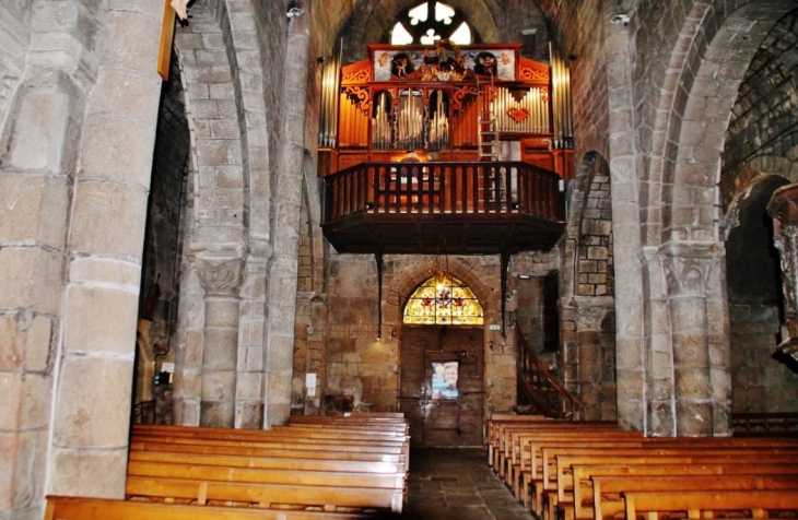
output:
[{"label": "tall pale block, second from bottom of left foreground round pillar", "polygon": [[59,375],[54,445],[78,451],[127,447],[132,357],[67,355]]}]

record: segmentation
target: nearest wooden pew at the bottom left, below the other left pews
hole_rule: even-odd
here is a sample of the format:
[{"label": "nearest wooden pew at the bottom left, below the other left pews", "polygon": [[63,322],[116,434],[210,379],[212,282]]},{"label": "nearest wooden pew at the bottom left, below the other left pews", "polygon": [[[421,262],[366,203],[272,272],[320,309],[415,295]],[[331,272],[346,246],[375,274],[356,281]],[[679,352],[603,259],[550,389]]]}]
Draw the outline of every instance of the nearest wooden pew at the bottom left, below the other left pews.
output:
[{"label": "nearest wooden pew at the bottom left, below the other left pews", "polygon": [[374,515],[48,496],[44,520],[374,520]]}]

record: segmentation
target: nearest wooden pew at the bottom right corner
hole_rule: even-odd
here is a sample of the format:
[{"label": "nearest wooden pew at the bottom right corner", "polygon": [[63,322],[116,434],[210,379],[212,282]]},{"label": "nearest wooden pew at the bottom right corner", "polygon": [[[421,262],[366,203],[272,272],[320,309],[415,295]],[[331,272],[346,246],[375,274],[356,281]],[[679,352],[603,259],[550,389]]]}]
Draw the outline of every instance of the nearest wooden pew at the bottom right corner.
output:
[{"label": "nearest wooden pew at the bottom right corner", "polygon": [[[712,518],[723,511],[744,511],[743,518],[798,518],[798,492],[630,492],[624,493],[625,516],[658,520],[661,513],[684,512],[689,518]],[[784,511],[789,517],[779,516]]]}]

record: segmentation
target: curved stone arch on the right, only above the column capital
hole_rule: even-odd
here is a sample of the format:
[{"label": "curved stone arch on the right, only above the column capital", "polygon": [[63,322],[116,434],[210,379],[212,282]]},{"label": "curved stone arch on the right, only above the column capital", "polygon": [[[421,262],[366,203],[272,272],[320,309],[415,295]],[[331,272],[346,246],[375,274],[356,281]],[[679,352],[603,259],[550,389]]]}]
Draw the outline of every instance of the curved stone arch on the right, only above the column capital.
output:
[{"label": "curved stone arch on the right, only above the column capital", "polygon": [[660,110],[670,111],[659,128],[667,139],[653,150],[657,157],[676,157],[661,164],[667,188],[664,241],[716,240],[713,204],[728,115],[756,49],[788,11],[789,5],[778,0],[747,2],[737,9],[716,0],[695,4],[686,17],[680,39],[689,44],[688,51],[674,47],[669,67],[674,72],[666,78],[659,101]]}]

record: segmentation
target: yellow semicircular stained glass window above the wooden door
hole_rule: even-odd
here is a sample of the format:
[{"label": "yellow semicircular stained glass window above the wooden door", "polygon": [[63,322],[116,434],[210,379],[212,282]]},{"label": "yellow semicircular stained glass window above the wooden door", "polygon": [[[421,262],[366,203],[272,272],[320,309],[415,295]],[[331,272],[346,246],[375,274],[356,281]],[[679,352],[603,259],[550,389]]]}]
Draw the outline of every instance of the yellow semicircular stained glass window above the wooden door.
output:
[{"label": "yellow semicircular stained glass window above the wooden door", "polygon": [[482,324],[482,307],[471,289],[449,273],[419,285],[404,306],[404,323]]}]

